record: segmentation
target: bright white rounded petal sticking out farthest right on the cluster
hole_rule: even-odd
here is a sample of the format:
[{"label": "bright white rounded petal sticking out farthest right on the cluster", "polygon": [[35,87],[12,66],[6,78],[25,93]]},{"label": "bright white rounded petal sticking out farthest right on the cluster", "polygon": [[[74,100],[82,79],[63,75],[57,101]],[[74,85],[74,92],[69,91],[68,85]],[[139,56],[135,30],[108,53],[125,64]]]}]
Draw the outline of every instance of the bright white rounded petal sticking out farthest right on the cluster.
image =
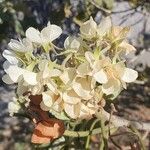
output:
[{"label": "bright white rounded petal sticking out farthest right on the cluster", "polygon": [[134,82],[137,77],[138,77],[137,71],[130,68],[125,68],[124,74],[121,77],[121,79],[127,83],[130,83],[130,82]]}]

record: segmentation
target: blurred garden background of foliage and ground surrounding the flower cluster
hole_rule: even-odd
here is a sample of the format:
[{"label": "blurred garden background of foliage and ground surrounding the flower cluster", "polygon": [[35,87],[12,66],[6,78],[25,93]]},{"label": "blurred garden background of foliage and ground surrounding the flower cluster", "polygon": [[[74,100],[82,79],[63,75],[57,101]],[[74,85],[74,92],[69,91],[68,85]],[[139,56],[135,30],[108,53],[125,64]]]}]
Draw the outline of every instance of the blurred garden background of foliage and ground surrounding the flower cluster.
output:
[{"label": "blurred garden background of foliage and ground surrounding the flower cluster", "polygon": [[[31,123],[28,119],[10,117],[7,110],[15,95],[15,85],[8,86],[1,80],[1,54],[10,39],[23,37],[31,26],[40,30],[50,21],[63,29],[57,41],[63,47],[64,39],[77,35],[79,25],[90,16],[99,23],[109,15],[114,25],[131,27],[128,40],[137,52],[128,56],[128,65],[139,71],[138,81],[115,100],[117,115],[150,122],[150,0],[0,0],[0,150],[36,149],[30,144]],[[125,145],[131,142],[118,140]],[[148,138],[146,145],[150,147]]]}]

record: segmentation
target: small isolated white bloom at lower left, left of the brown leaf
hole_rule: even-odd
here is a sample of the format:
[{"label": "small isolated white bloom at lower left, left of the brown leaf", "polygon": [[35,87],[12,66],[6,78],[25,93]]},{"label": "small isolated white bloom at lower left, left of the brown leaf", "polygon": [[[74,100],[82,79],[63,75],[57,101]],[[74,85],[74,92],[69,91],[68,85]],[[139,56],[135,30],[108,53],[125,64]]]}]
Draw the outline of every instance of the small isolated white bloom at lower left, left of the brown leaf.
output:
[{"label": "small isolated white bloom at lower left, left of the brown leaf", "polygon": [[9,111],[10,115],[13,116],[14,113],[18,113],[20,108],[21,108],[21,106],[17,102],[17,99],[15,97],[13,97],[13,101],[8,103],[8,111]]}]

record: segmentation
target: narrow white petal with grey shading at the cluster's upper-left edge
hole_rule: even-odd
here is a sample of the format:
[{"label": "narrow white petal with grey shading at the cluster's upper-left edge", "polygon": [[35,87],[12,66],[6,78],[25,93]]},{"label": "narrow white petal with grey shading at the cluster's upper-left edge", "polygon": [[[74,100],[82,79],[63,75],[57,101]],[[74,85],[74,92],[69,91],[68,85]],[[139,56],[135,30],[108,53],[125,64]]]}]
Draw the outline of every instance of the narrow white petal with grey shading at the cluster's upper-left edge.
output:
[{"label": "narrow white petal with grey shading at the cluster's upper-left edge", "polygon": [[18,64],[16,55],[9,50],[4,50],[3,57],[6,58],[11,64]]}]

